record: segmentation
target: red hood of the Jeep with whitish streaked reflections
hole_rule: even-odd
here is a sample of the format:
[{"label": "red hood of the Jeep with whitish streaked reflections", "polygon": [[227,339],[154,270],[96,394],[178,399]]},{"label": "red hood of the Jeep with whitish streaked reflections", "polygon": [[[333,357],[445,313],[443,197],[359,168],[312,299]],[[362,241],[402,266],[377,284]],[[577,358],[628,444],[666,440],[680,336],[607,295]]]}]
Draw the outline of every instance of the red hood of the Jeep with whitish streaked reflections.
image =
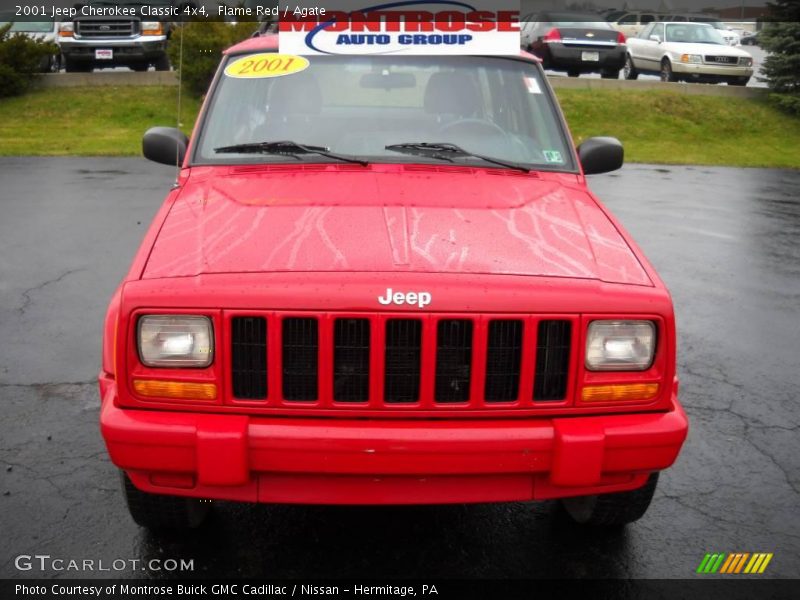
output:
[{"label": "red hood of the Jeep with whitish streaked reflections", "polygon": [[195,167],[143,277],[276,271],[652,285],[575,175],[422,165]]}]

